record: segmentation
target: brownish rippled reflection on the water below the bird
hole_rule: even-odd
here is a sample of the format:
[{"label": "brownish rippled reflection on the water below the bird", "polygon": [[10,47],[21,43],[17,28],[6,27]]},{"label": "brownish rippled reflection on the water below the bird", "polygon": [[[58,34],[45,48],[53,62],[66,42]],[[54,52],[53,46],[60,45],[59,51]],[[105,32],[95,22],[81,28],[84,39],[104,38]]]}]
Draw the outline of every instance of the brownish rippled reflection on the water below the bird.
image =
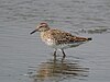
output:
[{"label": "brownish rippled reflection on the water below the bird", "polygon": [[33,82],[62,81],[65,79],[81,79],[88,77],[88,68],[79,65],[78,60],[54,57],[38,66],[38,70],[31,77]]}]

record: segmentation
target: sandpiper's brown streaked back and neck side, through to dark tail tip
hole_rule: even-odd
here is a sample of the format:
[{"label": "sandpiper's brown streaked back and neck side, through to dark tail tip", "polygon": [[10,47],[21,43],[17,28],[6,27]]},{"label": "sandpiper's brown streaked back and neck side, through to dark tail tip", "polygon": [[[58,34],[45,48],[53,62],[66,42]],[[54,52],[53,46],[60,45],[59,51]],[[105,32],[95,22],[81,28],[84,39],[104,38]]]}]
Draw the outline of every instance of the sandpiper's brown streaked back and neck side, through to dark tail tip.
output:
[{"label": "sandpiper's brown streaked back and neck side, through to dark tail tip", "polygon": [[78,37],[74,36],[70,33],[66,33],[64,31],[59,30],[50,30],[44,33],[44,38],[51,38],[55,40],[55,43],[58,44],[69,44],[69,43],[76,43],[76,42],[87,42],[91,40],[91,38],[86,37]]}]

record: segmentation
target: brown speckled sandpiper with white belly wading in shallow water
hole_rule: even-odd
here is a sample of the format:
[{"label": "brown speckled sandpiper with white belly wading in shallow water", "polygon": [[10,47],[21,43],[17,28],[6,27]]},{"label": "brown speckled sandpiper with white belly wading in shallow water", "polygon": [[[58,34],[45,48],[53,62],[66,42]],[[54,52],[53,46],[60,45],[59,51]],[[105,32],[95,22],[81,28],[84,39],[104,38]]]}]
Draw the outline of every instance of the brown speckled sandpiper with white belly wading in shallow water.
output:
[{"label": "brown speckled sandpiper with white belly wading in shallow water", "polygon": [[40,23],[40,25],[37,25],[37,27],[30,34],[35,32],[40,32],[42,40],[55,49],[55,56],[57,49],[59,49],[64,55],[63,57],[65,57],[66,55],[64,49],[77,47],[88,40],[91,40],[91,38],[78,37],[61,30],[51,28],[47,23]]}]

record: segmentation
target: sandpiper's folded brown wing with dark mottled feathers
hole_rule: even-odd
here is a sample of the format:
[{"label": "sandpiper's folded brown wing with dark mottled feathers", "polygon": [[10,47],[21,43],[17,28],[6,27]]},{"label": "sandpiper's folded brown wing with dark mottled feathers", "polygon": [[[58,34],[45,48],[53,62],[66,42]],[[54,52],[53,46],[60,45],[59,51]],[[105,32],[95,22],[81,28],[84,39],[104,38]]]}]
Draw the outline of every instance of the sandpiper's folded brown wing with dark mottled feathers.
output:
[{"label": "sandpiper's folded brown wing with dark mottled feathers", "polygon": [[74,36],[70,33],[66,33],[58,30],[51,31],[51,36],[57,44],[69,44],[75,42],[86,42],[88,38]]}]

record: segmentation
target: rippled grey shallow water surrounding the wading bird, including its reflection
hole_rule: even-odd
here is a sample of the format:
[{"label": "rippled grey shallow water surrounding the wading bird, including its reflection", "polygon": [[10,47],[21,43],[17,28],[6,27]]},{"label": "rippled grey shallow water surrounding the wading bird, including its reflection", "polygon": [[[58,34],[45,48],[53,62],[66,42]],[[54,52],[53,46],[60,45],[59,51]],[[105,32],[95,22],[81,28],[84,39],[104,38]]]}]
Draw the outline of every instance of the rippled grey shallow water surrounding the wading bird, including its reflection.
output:
[{"label": "rippled grey shallow water surrounding the wading bird, including its reflection", "polygon": [[[92,42],[55,59],[40,22]],[[0,0],[0,82],[109,82],[109,26],[110,0]]]}]

